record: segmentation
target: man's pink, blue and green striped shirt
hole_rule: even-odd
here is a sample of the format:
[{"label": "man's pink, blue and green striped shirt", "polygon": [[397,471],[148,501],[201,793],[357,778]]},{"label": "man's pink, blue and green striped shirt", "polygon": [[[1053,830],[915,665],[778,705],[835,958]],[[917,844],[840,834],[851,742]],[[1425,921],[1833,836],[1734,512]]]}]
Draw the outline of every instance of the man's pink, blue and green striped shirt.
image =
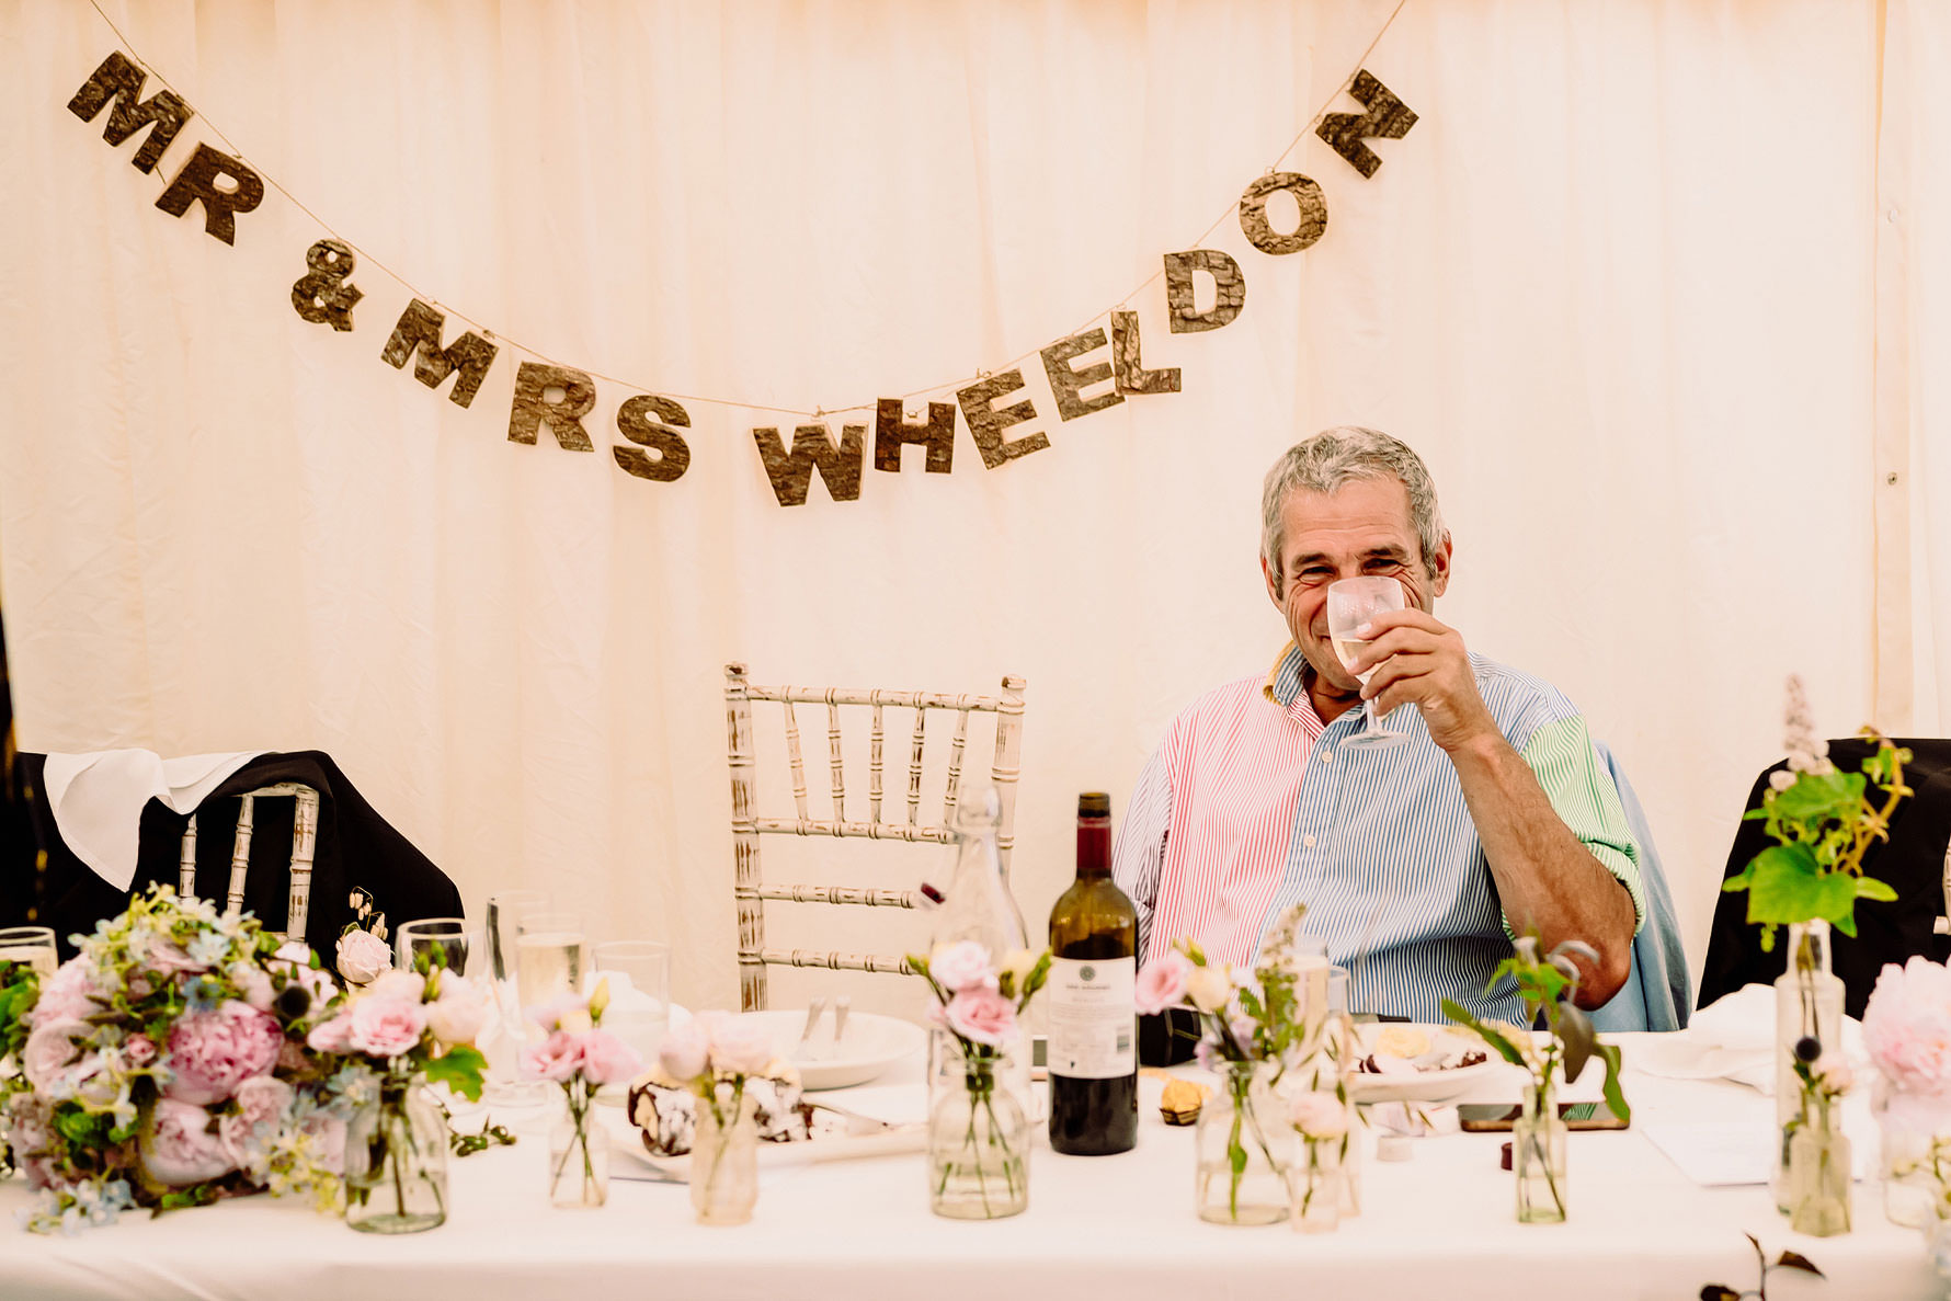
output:
[{"label": "man's pink, blue and green striped shirt", "polygon": [[[1348,749],[1364,710],[1323,724],[1292,642],[1266,679],[1200,696],[1167,728],[1137,778],[1112,854],[1137,905],[1137,952],[1198,940],[1247,966],[1282,911],[1307,903],[1301,934],[1350,967],[1356,1010],[1440,1022],[1442,999],[1522,1020],[1516,989],[1485,995],[1510,956],[1510,925],[1450,757],[1416,710],[1395,710],[1401,745]],[[1477,690],[1553,809],[1647,915],[1639,847],[1619,792],[1559,690],[1471,655]],[[1366,960],[1362,960],[1366,954]]]}]

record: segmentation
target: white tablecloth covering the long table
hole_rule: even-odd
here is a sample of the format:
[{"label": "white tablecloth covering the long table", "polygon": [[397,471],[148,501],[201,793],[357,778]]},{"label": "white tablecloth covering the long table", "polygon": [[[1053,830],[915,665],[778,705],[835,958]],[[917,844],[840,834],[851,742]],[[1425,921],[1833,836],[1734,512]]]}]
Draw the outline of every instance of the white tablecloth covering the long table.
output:
[{"label": "white tablecloth covering the long table", "polygon": [[[1619,1036],[1627,1063],[1635,1038]],[[1502,1137],[1469,1133],[1416,1139],[1407,1163],[1366,1161],[1364,1213],[1331,1235],[1206,1225],[1192,1215],[1192,1129],[1149,1112],[1134,1153],[1038,1149],[1030,1209],[1015,1219],[936,1219],[923,1157],[909,1153],[767,1168],[749,1225],[704,1229],[675,1184],[613,1180],[603,1209],[550,1209],[535,1116],[517,1147],[453,1163],[453,1215],[433,1233],[359,1235],[267,1198],[125,1215],[72,1239],[0,1229],[0,1297],[1676,1301],[1707,1281],[1756,1285],[1742,1233],[1770,1256],[1793,1248],[1828,1272],[1826,1283],[1773,1274],[1772,1297],[1939,1295],[1922,1237],[1883,1217],[1875,1184],[1855,1188],[1855,1233],[1807,1239],[1789,1233],[1766,1188],[1699,1188],[1641,1131],[1658,1118],[1768,1127],[1768,1098],[1631,1069],[1625,1084],[1633,1129],[1571,1135],[1565,1225],[1518,1225],[1512,1176],[1498,1168]],[[1512,1096],[1512,1081],[1485,1092]],[[1873,1143],[1873,1131],[1853,1137]],[[0,1186],[8,1217],[25,1200],[18,1180]]]}]

